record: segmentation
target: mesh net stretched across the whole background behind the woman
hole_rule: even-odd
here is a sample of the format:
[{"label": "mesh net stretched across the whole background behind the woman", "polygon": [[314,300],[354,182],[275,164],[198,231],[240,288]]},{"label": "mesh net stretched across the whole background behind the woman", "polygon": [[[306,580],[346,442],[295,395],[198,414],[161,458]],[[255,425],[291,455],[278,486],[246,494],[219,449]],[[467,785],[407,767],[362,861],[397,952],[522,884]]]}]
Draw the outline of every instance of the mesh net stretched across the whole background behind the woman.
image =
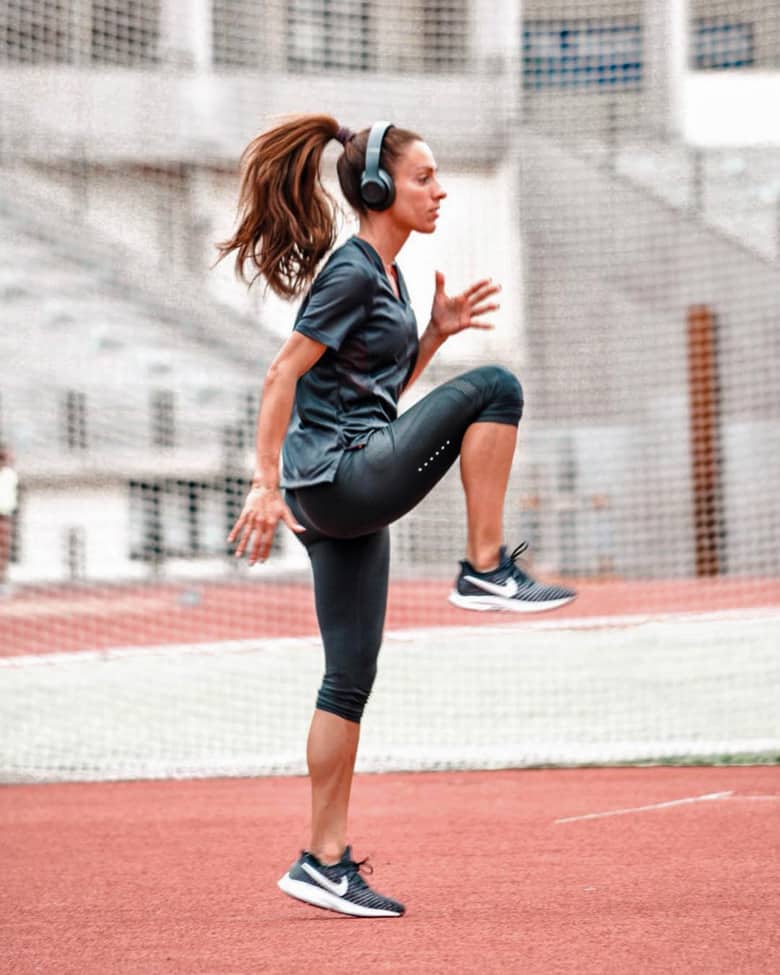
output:
[{"label": "mesh net stretched across the whole background behind the woman", "polygon": [[[775,4],[9,0],[0,77],[0,779],[303,770],[305,552],[225,543],[294,308],[212,267],[241,149],[297,111],[431,145],[418,320],[434,268],[502,309],[407,402],[520,376],[506,537],[580,592],[542,621],[451,608],[453,470],[392,529],[359,767],[777,760],[780,140],[776,89],[745,95],[780,86]],[[692,86],[719,95],[695,141]]]}]

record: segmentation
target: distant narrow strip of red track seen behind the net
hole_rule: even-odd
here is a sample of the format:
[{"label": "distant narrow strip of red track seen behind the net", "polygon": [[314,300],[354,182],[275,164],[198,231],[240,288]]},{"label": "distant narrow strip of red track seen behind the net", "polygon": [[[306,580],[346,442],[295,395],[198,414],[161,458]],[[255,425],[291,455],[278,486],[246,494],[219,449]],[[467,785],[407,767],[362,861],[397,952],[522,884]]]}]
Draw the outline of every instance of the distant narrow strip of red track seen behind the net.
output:
[{"label": "distant narrow strip of red track seen behind the net", "polygon": [[[585,581],[578,588],[577,600],[556,619],[780,605],[778,579]],[[388,628],[525,622],[455,609],[447,603],[449,589],[446,581],[396,581]],[[308,582],[61,587],[0,602],[2,656],[316,633]]]}]

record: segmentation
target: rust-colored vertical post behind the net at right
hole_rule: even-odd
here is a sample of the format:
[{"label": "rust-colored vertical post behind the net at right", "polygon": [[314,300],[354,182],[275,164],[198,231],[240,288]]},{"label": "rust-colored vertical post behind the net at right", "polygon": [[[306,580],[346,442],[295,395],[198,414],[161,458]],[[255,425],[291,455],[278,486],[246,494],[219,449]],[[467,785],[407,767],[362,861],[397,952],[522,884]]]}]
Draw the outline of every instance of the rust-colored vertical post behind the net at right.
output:
[{"label": "rust-colored vertical post behind the net at right", "polygon": [[696,575],[715,576],[718,558],[720,402],[715,316],[706,305],[688,309],[688,398],[693,476]]}]

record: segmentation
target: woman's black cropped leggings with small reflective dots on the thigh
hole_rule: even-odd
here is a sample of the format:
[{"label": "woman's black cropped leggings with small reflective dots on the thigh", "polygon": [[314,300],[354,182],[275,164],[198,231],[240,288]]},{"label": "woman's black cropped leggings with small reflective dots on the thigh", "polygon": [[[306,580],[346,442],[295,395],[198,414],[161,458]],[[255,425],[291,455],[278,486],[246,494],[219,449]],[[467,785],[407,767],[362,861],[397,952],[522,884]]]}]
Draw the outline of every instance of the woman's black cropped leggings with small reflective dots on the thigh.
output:
[{"label": "woman's black cropped leggings with small reflective dots on the thigh", "polygon": [[517,426],[523,391],[501,366],[472,369],[434,389],[344,454],[330,484],[286,492],[306,528],[325,648],[317,707],[359,722],[376,677],[387,606],[388,525],[411,511],[460,453],[472,423]]}]

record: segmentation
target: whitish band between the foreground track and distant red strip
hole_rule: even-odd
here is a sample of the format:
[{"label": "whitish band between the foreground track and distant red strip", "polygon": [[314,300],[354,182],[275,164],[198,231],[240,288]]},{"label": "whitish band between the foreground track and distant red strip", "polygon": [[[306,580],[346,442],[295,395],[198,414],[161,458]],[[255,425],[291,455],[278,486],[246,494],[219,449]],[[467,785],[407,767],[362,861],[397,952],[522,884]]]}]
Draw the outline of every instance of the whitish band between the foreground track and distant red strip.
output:
[{"label": "whitish band between the foreground track and distant red strip", "polygon": [[[393,630],[357,768],[777,760],[778,622]],[[277,637],[7,659],[0,675],[7,782],[302,774],[321,665],[316,638]]]}]

